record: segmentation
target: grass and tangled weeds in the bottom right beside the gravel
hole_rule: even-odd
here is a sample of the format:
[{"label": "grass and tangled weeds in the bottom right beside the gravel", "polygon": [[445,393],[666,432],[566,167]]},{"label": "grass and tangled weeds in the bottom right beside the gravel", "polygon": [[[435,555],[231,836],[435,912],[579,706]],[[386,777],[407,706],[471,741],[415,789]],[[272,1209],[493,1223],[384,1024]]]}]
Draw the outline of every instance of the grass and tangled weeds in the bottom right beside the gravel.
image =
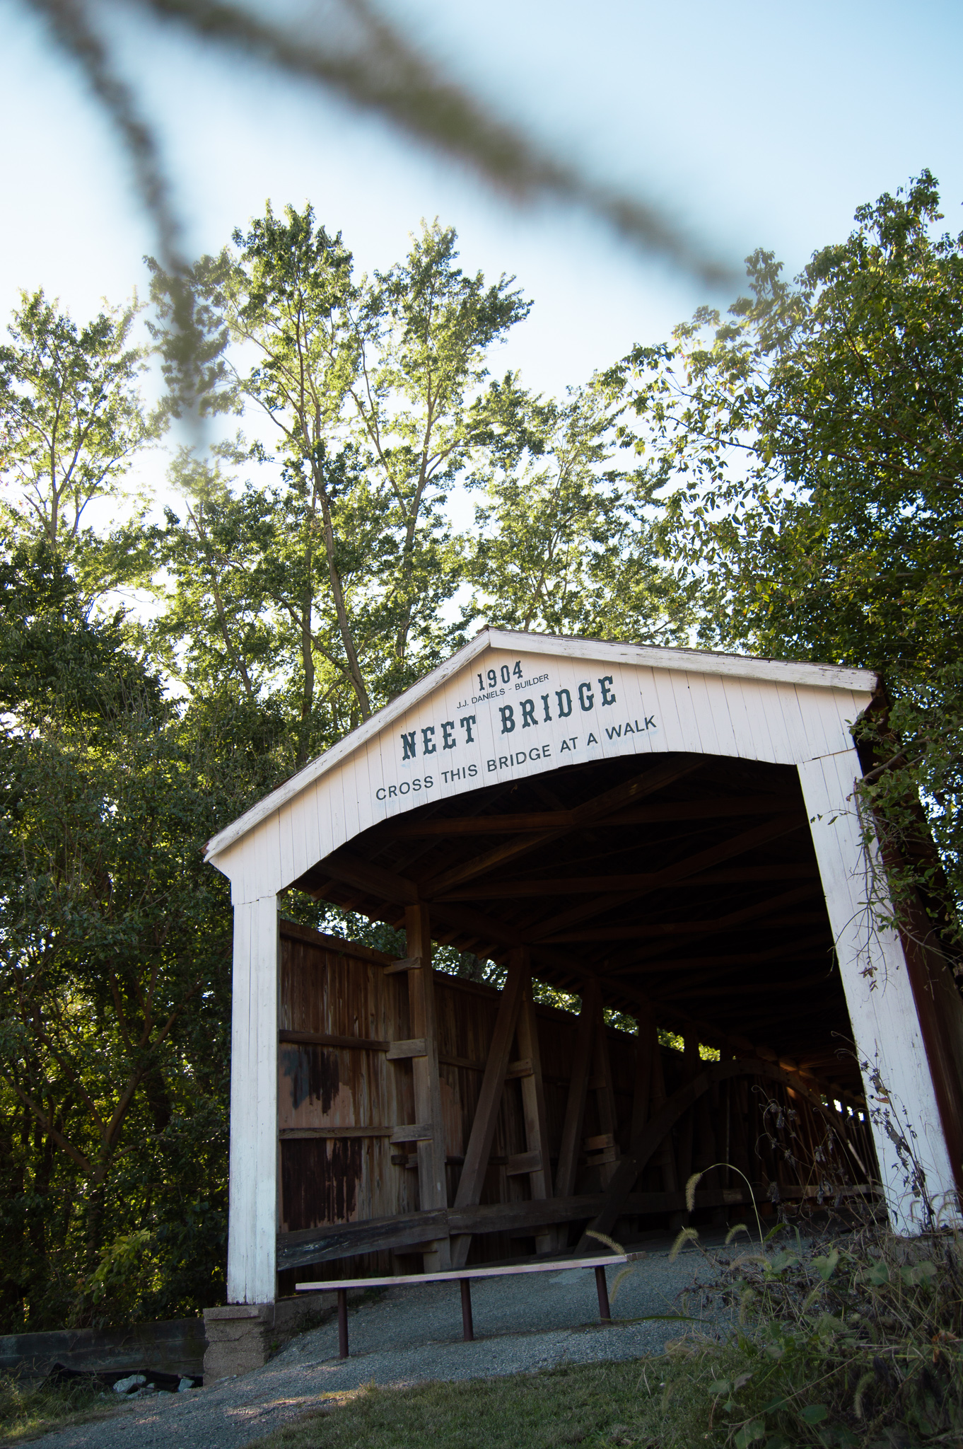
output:
[{"label": "grass and tangled weeds in the bottom right beside the gravel", "polygon": [[[734,1229],[733,1233],[739,1233]],[[733,1236],[733,1235],[730,1235]],[[698,1235],[685,1229],[679,1237]],[[818,1252],[824,1248],[824,1252]],[[699,1284],[728,1343],[540,1374],[332,1394],[259,1449],[928,1449],[963,1446],[963,1239],[885,1229],[804,1243],[779,1224]]]}]

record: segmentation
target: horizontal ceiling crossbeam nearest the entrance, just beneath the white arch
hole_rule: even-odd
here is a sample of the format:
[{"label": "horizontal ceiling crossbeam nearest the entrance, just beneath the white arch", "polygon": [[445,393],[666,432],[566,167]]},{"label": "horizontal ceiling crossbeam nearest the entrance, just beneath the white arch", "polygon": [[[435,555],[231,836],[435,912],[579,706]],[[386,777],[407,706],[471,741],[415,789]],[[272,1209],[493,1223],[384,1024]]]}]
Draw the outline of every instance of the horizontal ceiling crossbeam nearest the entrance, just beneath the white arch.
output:
[{"label": "horizontal ceiling crossbeam nearest the entrance, just beneath the white arch", "polygon": [[[608,817],[608,824],[662,824],[676,820],[715,820],[728,816],[778,814],[796,804],[794,796],[736,796],[721,800],[679,800],[633,806]],[[578,810],[530,810],[516,814],[434,816],[430,820],[401,820],[390,833],[397,839],[452,835],[529,835],[573,830],[582,824]]]}]

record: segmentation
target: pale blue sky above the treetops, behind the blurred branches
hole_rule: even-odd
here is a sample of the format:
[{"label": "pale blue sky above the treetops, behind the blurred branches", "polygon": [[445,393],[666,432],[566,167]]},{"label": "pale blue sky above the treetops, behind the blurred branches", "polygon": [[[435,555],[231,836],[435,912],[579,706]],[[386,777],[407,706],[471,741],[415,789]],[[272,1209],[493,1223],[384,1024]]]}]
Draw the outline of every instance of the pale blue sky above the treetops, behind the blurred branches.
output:
[{"label": "pale blue sky above the treetops, behind the blurred branches", "polygon": [[[379,3],[469,90],[736,267],[765,246],[795,272],[847,235],[860,203],[924,167],[941,181],[947,227],[963,229],[959,3]],[[534,301],[494,371],[521,368],[556,394],[665,339],[701,303],[730,300],[592,216],[508,204],[306,84],[198,51],[136,7],[97,13],[156,128],[193,254],[219,249],[266,199],[310,200],[362,270],[390,265],[437,216],[458,229],[468,270],[516,275]],[[101,297],[143,294],[156,242],[126,158],[23,0],[0,16],[0,310],[19,288],[43,287],[78,320]]]}]

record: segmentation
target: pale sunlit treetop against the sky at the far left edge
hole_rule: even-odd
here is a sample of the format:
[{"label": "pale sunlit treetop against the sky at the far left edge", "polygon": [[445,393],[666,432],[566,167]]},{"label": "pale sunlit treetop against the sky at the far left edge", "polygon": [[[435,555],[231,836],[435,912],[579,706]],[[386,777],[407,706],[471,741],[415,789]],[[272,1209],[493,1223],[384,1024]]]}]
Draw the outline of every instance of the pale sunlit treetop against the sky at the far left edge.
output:
[{"label": "pale sunlit treetop against the sky at the far left edge", "polygon": [[0,346],[0,477],[25,509],[4,506],[6,517],[62,555],[93,543],[87,507],[117,496],[159,430],[138,388],[146,361],[130,342],[136,313],[135,297],[78,327],[43,291],[22,293]]}]

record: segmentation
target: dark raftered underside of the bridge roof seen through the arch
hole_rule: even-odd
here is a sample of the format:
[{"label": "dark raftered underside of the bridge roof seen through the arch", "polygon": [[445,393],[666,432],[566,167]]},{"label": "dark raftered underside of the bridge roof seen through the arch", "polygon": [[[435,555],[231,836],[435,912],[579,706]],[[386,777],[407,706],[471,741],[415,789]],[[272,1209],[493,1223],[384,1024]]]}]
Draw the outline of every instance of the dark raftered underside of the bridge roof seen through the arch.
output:
[{"label": "dark raftered underside of the bridge roof seen through the arch", "polygon": [[[747,1049],[860,1093],[795,769],[705,755],[571,765],[374,826],[295,882],[723,1056]],[[851,1100],[851,1098],[850,1098]]]}]

